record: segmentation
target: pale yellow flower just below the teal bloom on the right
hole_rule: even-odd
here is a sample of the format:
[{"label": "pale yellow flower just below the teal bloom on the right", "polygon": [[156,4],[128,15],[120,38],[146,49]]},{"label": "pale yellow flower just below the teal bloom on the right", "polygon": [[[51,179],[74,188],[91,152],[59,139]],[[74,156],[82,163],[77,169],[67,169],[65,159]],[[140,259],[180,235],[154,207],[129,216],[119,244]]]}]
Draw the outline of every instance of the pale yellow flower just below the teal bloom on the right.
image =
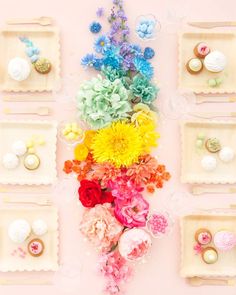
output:
[{"label": "pale yellow flower just below the teal bloom on the right", "polygon": [[138,103],[134,106],[134,114],[131,117],[131,122],[135,124],[135,126],[152,124],[155,125],[156,114],[151,111],[150,108],[143,104]]}]

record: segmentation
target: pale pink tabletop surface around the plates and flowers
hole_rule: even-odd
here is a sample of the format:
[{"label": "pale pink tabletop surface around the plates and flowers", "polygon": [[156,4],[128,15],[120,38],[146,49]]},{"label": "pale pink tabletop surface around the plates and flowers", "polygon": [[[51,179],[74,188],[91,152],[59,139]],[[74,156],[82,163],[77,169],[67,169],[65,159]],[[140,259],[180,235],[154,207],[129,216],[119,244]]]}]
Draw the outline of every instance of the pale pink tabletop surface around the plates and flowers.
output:
[{"label": "pale pink tabletop surface around the plates and flowers", "polygon": [[[62,73],[66,77],[72,75],[81,82],[83,79],[91,77],[93,73],[85,72],[80,66],[80,58],[85,53],[92,50],[93,36],[88,32],[88,24],[95,19],[95,10],[97,7],[105,7],[106,12],[110,10],[111,1],[109,0],[41,0],[38,2],[30,0],[13,1],[8,0],[3,3],[0,10],[0,20],[2,25],[4,20],[9,17],[33,17],[40,15],[50,15],[54,17],[61,28],[62,35]],[[126,13],[129,16],[131,28],[134,28],[135,18],[140,14],[153,13],[157,16],[163,25],[162,33],[158,35],[155,41],[142,43],[143,46],[149,44],[157,52],[154,60],[156,69],[156,79],[162,88],[161,99],[167,100],[175,93],[177,81],[177,38],[174,32],[177,28],[177,17],[187,16],[189,20],[234,20],[235,1],[234,0],[126,0]],[[173,21],[173,26],[166,27],[166,23]],[[132,32],[133,33],[133,32]],[[138,41],[134,34],[134,41]],[[68,82],[67,82],[68,83]],[[79,85],[78,85],[79,86]],[[73,91],[72,95],[73,95]],[[70,93],[71,93],[70,92]],[[11,104],[4,104],[10,106]],[[45,104],[43,104],[45,105]],[[50,105],[50,104],[49,104]],[[22,105],[21,105],[22,106]],[[61,120],[71,117],[74,111],[71,108],[63,107],[62,104],[55,104],[54,117]],[[202,105],[197,109],[209,110],[231,110],[232,105]],[[235,105],[234,105],[235,108]],[[3,117],[1,115],[1,117]],[[157,155],[160,162],[164,162],[172,174],[172,179],[165,189],[151,197],[153,208],[167,209],[175,208],[175,211],[183,211],[180,208],[211,208],[227,206],[235,201],[235,196],[201,196],[192,197],[187,195],[182,198],[179,204],[174,205],[170,196],[183,196],[187,192],[186,188],[180,184],[180,138],[179,126],[177,120],[169,120],[162,117],[160,123],[160,146]],[[59,144],[58,148],[58,170],[61,170],[62,163],[67,158],[72,157],[71,151],[65,146]],[[61,174],[62,177],[62,174]],[[64,180],[65,182],[65,180]],[[103,294],[103,278],[98,276],[95,271],[97,261],[96,253],[93,248],[87,244],[79,234],[78,225],[81,216],[81,208],[77,205],[75,199],[70,198],[73,187],[70,186],[69,192],[64,189],[57,189],[54,193],[54,199],[60,208],[60,260],[66,266],[74,265],[75,269],[81,265],[79,277],[77,272],[68,273],[66,276],[58,276],[56,284],[52,286],[5,286],[0,287],[0,294],[72,294],[72,295],[100,295]],[[178,206],[179,209],[176,209]],[[127,284],[127,295],[136,294],[188,294],[199,295],[211,292],[215,295],[235,295],[235,287],[213,287],[204,286],[195,288],[189,286],[184,279],[179,276],[180,264],[180,235],[178,227],[178,218],[176,217],[176,226],[173,234],[163,240],[155,240],[154,246],[147,263],[136,267],[134,279]],[[29,280],[30,277],[51,277],[52,274],[7,274],[4,277],[17,278],[22,277]],[[61,279],[63,278],[63,279]],[[71,288],[68,288],[68,284]],[[68,291],[68,292],[67,292]]]}]

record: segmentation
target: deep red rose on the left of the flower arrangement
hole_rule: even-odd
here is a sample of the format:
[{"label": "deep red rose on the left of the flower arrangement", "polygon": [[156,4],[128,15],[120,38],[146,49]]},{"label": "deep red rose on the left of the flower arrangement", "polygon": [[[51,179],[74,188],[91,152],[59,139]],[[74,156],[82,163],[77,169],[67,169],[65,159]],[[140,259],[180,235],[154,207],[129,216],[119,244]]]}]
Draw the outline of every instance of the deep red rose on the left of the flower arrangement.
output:
[{"label": "deep red rose on the left of the flower arrangement", "polygon": [[91,180],[82,180],[79,187],[79,200],[84,207],[92,208],[97,204],[112,203],[110,192],[102,191],[99,183]]}]

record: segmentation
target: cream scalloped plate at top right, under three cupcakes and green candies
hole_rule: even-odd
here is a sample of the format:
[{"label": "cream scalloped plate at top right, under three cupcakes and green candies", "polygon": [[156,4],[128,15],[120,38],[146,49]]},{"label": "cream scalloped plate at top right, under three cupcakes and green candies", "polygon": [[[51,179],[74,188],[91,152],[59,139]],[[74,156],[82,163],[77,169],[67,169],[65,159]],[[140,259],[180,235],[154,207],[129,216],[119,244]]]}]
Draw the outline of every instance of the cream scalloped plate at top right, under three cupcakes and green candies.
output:
[{"label": "cream scalloped plate at top right, under three cupcakes and green candies", "polygon": [[[193,49],[199,42],[209,44],[211,50],[219,50],[226,55],[227,66],[223,72],[211,73],[205,68],[192,75],[186,69],[188,60],[194,57]],[[178,86],[195,93],[234,93],[236,92],[236,33],[234,32],[184,32],[179,36]],[[218,87],[210,87],[208,79],[222,77],[223,83]]]}]

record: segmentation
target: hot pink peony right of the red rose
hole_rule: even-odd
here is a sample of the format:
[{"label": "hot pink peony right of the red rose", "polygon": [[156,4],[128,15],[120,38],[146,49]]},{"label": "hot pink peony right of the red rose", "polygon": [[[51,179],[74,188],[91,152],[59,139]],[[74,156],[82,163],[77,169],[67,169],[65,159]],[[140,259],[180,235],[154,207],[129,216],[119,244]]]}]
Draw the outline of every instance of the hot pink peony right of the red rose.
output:
[{"label": "hot pink peony right of the red rose", "polygon": [[149,203],[141,195],[126,200],[115,199],[115,216],[126,227],[144,227],[148,210]]}]

